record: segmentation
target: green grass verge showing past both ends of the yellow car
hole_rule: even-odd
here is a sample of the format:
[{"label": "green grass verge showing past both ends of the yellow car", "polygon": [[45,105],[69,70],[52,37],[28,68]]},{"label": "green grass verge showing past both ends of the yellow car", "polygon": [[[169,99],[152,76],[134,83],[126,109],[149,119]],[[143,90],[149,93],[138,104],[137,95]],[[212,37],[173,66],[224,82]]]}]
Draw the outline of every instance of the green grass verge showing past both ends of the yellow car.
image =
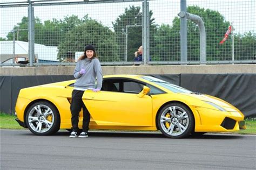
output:
[{"label": "green grass verge showing past both ends of the yellow car", "polygon": [[[0,129],[25,129],[15,121],[16,116],[0,113]],[[256,134],[256,121],[246,120],[246,130],[228,132],[232,134]],[[223,132],[226,133],[226,132]]]}]

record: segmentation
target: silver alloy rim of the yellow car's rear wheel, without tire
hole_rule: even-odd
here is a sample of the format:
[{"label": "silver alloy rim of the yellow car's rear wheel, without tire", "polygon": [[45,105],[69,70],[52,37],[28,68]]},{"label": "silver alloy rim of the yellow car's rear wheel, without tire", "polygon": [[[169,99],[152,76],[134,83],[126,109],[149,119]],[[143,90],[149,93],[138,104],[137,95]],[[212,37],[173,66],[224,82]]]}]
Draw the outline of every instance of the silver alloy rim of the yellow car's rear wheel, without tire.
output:
[{"label": "silver alloy rim of the yellow car's rear wheel, without tire", "polygon": [[31,129],[37,133],[44,133],[52,128],[54,114],[47,105],[35,105],[29,112],[28,122]]}]

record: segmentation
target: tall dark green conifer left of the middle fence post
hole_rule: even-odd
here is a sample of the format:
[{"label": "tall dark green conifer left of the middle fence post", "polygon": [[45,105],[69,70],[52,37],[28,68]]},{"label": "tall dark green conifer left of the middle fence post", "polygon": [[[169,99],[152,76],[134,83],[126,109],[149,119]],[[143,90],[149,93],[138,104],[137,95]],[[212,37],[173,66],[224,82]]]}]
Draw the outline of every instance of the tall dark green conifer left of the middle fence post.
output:
[{"label": "tall dark green conifer left of the middle fence post", "polygon": [[[118,55],[124,61],[126,46],[126,29],[127,29],[127,61],[133,61],[134,52],[138,51],[138,47],[142,45],[142,12],[140,6],[129,6],[125,8],[125,12],[112,22],[114,31],[116,32],[118,42]],[[150,15],[150,31],[156,29],[154,18]]]}]

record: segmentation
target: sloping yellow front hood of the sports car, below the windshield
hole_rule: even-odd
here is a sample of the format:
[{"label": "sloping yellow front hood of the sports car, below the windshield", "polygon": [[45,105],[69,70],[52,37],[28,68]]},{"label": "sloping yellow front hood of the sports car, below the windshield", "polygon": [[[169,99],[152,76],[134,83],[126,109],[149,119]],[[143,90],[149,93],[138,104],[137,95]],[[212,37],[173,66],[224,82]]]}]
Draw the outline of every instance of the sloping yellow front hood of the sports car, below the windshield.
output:
[{"label": "sloping yellow front hood of the sports car, below the windshield", "polygon": [[184,94],[184,95],[197,98],[198,100],[201,100],[201,101],[206,101],[206,102],[211,102],[211,103],[217,104],[220,107],[222,107],[223,109],[225,109],[226,111],[231,111],[231,112],[239,111],[232,104],[230,104],[230,103],[228,103],[224,100],[221,100],[218,97],[214,97],[214,96],[210,96],[210,95],[204,95],[204,94],[200,94],[200,95],[198,95],[198,94]]}]

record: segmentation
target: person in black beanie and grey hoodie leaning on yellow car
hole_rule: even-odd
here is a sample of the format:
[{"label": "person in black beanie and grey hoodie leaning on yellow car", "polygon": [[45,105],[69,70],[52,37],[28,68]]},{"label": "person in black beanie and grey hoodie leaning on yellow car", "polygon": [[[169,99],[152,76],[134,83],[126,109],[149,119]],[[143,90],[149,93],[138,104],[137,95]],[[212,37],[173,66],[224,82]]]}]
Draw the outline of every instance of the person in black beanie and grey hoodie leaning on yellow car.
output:
[{"label": "person in black beanie and grey hoodie leaning on yellow car", "polygon": [[[77,61],[77,65],[74,71],[74,77],[76,78],[75,88],[72,91],[72,101],[70,105],[71,110],[71,122],[72,132],[70,138],[76,138],[78,136],[78,121],[79,112],[83,108],[83,132],[78,137],[88,137],[90,113],[82,101],[84,91],[92,89],[95,92],[100,91],[102,88],[102,67],[96,55],[96,49],[93,45],[87,45],[84,49],[84,55],[80,56]],[[97,88],[95,89],[95,80],[97,77]]]}]

